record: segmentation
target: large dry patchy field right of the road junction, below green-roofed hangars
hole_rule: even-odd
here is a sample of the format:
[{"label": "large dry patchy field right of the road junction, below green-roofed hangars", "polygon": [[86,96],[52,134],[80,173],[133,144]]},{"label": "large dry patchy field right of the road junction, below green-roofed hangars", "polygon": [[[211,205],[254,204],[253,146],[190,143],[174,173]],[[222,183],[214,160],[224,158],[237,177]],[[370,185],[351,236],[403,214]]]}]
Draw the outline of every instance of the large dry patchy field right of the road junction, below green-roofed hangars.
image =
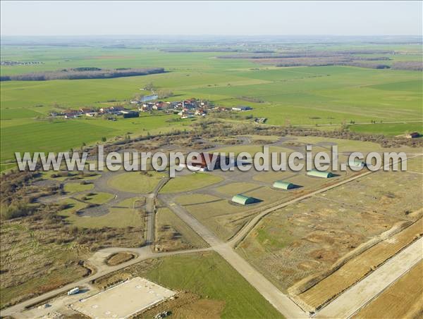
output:
[{"label": "large dry patchy field right of the road junction, below green-roofed hangars", "polygon": [[[286,291],[396,223],[417,220],[422,175],[374,173],[266,216],[238,246]],[[354,194],[354,196],[351,196]]]}]

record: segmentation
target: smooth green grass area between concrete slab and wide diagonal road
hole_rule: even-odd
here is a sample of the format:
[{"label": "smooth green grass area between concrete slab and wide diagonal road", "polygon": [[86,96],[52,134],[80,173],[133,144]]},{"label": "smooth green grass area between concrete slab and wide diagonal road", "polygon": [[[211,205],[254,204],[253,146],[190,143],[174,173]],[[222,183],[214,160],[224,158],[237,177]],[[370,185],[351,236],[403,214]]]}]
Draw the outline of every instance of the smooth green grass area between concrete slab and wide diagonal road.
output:
[{"label": "smooth green grass area between concrete slab and wide diagonal road", "polygon": [[225,301],[221,318],[283,318],[216,253],[161,258],[147,278],[169,289]]}]

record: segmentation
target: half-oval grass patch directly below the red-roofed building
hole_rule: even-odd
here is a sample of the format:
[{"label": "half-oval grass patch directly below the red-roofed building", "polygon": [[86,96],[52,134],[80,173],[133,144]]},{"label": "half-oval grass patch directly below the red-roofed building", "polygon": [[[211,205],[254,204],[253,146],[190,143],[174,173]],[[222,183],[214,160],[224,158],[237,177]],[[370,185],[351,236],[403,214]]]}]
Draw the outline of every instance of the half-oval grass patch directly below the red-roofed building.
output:
[{"label": "half-oval grass patch directly below the red-roofed building", "polygon": [[190,175],[177,176],[168,181],[161,189],[161,193],[188,192],[193,189],[216,184],[223,177],[209,173],[191,173]]}]

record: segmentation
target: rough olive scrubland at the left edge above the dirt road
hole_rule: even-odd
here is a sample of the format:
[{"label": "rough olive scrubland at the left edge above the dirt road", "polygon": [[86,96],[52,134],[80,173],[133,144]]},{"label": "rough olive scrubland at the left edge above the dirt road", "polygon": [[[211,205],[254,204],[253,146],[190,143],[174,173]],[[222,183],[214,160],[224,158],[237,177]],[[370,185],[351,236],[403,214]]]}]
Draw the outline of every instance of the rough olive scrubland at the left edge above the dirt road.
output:
[{"label": "rough olive scrubland at the left edge above the dirt road", "polygon": [[[73,244],[56,244],[56,235],[22,221],[1,224],[1,308],[86,275],[87,270],[78,265],[86,251]],[[46,243],[49,237],[53,240]]]}]

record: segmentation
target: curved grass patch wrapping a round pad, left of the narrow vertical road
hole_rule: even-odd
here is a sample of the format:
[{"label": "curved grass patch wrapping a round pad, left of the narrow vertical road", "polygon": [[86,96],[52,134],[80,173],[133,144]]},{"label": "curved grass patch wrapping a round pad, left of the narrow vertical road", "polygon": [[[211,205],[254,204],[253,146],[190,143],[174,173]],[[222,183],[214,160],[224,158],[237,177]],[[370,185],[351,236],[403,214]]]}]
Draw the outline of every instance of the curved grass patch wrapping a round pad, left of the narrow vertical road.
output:
[{"label": "curved grass patch wrapping a round pad, left of the narrow vertical road", "polygon": [[99,217],[80,217],[75,214],[85,207],[85,204],[73,199],[66,199],[63,204],[70,207],[59,212],[59,215],[65,216],[66,220],[74,226],[84,228],[102,228],[102,227],[139,227],[144,225],[144,219],[133,208],[110,208],[109,213]]}]

